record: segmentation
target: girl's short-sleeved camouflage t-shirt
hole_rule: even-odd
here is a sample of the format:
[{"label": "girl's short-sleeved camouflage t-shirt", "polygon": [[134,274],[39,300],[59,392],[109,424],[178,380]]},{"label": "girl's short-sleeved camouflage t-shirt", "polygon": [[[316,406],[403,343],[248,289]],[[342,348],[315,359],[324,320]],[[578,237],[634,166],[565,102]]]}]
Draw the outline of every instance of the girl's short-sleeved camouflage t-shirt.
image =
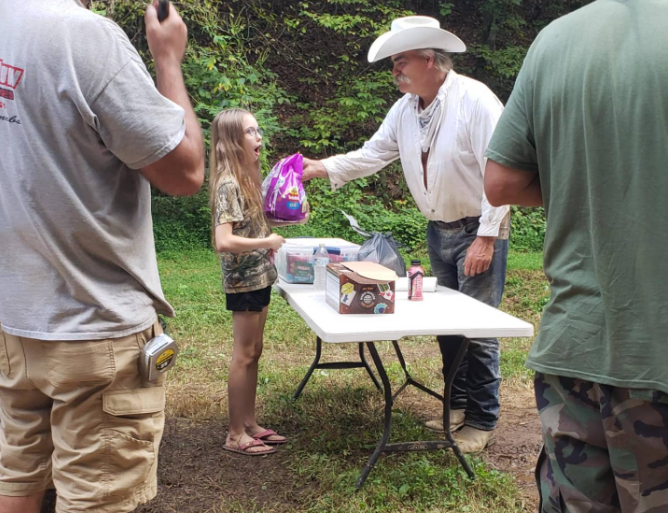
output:
[{"label": "girl's short-sleeved camouflage t-shirt", "polygon": [[[239,184],[233,178],[223,179],[216,195],[216,226],[225,223],[232,223],[232,233],[239,237],[260,239],[271,234],[266,223],[251,219]],[[223,290],[236,294],[273,285],[278,274],[270,255],[270,249],[221,253]]]}]

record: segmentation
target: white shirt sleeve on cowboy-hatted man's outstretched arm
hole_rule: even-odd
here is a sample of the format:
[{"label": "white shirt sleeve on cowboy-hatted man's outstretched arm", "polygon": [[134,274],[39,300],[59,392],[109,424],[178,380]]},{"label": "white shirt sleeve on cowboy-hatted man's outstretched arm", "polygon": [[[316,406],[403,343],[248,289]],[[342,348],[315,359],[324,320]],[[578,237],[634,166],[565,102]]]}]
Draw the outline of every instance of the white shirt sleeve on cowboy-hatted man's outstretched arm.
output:
[{"label": "white shirt sleeve on cowboy-hatted man's outstretched arm", "polygon": [[394,104],[378,131],[362,148],[322,161],[332,190],[335,191],[357,178],[371,176],[399,158],[396,136],[398,105],[399,102]]}]

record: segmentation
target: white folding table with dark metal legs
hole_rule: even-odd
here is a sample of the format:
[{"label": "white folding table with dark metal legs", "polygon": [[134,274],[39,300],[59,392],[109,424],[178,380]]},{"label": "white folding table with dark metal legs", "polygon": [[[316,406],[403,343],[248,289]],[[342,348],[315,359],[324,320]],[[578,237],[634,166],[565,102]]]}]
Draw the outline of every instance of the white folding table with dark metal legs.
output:
[{"label": "white folding table with dark metal legs", "polygon": [[[452,448],[464,470],[474,474],[462,455],[450,432],[450,391],[468,341],[472,338],[530,337],[533,326],[496,308],[481,303],[456,290],[438,287],[436,292],[424,293],[423,301],[409,301],[407,292],[396,293],[395,313],[341,315],[325,302],[324,291],[316,291],[313,285],[290,284],[280,280],[274,289],[294,308],[316,334],[316,356],[304,379],[297,387],[293,399],[297,399],[315,369],[365,368],[378,389],[381,388],[366,358],[364,344],[380,376],[385,397],[385,428],[369,462],[357,481],[359,489],[383,452],[421,451]],[[450,366],[445,378],[443,395],[415,381],[408,370],[399,347],[399,340],[413,336],[459,335],[464,343]],[[406,381],[393,395],[390,381],[376,350],[375,342],[391,341],[406,376]],[[357,343],[360,361],[320,363],[322,343]],[[392,403],[408,386],[412,385],[436,397],[443,403],[445,439],[437,441],[403,442],[388,444],[392,423]]]}]

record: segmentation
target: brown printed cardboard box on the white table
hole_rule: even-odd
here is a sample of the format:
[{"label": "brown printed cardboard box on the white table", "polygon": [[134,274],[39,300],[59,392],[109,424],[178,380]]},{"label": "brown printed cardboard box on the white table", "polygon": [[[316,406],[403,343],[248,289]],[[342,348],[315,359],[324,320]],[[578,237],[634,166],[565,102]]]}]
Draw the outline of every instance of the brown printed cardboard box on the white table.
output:
[{"label": "brown printed cardboard box on the white table", "polygon": [[327,265],[327,304],[341,314],[394,313],[396,273],[374,262]]}]

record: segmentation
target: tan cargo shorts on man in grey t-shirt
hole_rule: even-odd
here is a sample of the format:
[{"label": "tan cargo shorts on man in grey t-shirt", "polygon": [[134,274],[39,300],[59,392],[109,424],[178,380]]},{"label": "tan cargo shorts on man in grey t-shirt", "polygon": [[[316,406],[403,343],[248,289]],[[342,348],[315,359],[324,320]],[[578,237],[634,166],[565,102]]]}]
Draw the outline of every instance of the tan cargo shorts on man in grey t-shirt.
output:
[{"label": "tan cargo shorts on man in grey t-shirt", "polygon": [[155,497],[165,389],[143,382],[139,356],[161,332],[54,342],[0,328],[1,495],[53,483],[58,513],[130,512]]}]

